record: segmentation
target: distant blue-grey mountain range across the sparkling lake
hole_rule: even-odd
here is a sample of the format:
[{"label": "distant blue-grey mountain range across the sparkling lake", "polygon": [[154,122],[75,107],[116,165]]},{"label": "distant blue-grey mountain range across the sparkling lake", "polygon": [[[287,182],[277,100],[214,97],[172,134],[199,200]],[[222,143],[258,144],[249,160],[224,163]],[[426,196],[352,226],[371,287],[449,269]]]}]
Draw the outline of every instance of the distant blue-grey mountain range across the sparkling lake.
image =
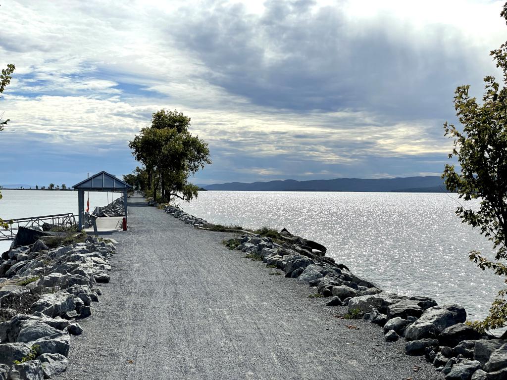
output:
[{"label": "distant blue-grey mountain range across the sparkling lake", "polygon": [[203,186],[206,190],[228,191],[281,191],[281,192],[447,192],[444,180],[439,176],[406,177],[389,179],[336,178],[296,181],[294,179],[269,182],[228,182]]}]

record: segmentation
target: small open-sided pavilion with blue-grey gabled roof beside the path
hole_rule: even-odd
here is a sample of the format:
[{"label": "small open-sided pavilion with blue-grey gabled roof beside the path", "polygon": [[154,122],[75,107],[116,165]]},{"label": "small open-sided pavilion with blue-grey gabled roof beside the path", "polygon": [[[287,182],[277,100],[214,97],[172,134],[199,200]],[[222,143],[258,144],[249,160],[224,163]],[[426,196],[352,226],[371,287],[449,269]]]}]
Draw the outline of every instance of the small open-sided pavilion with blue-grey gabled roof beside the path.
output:
[{"label": "small open-sided pavilion with blue-grey gabled roof beside the path", "polygon": [[100,173],[94,174],[87,179],[76,183],[74,186],[78,194],[79,204],[79,225],[78,228],[81,231],[84,222],[85,214],[85,192],[123,192],[123,208],[125,212],[125,222],[127,221],[127,192],[132,188],[131,185],[122,181],[116,176],[107,172],[101,171]]}]

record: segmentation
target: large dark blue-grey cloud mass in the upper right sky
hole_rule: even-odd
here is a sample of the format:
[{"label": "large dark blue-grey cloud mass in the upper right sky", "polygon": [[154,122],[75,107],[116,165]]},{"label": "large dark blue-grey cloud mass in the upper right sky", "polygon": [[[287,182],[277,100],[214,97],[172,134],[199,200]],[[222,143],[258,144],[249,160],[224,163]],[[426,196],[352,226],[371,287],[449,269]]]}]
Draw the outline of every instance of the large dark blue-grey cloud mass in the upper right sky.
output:
[{"label": "large dark blue-grey cloud mass in the upper right sky", "polygon": [[168,32],[204,62],[211,83],[262,106],[444,118],[455,87],[480,80],[475,57],[487,51],[463,44],[452,26],[418,30],[389,16],[356,24],[338,7],[312,5],[268,1],[262,15],[241,5],[193,10]]}]

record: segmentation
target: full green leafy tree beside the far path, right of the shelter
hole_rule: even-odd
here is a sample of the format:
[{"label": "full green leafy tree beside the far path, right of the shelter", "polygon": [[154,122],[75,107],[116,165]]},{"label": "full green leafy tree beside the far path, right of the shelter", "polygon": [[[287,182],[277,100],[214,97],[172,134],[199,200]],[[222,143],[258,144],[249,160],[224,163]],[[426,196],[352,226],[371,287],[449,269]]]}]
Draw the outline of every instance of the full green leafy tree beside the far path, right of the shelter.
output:
[{"label": "full green leafy tree beside the far path, right of the shelter", "polygon": [[211,164],[208,144],[189,132],[190,118],[183,112],[153,113],[151,127],[129,141],[132,155],[146,168],[146,190],[154,199],[177,197],[190,202],[198,187],[188,181],[204,165]]}]

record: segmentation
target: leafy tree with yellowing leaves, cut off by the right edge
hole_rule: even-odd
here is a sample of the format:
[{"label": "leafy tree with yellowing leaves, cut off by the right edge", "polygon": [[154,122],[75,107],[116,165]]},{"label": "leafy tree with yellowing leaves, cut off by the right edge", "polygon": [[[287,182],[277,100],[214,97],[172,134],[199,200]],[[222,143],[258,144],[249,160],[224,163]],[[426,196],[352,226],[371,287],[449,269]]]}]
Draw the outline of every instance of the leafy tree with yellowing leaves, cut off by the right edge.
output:
[{"label": "leafy tree with yellowing leaves, cut off by the right edge", "polygon": [[[500,15],[507,21],[507,3]],[[447,164],[442,175],[450,191],[469,201],[479,199],[478,210],[460,206],[456,214],[463,223],[478,228],[492,243],[494,260],[478,251],[472,251],[469,259],[482,270],[492,270],[507,284],[507,42],[490,53],[496,67],[503,72],[503,86],[492,75],[484,78],[485,93],[482,103],[470,97],[470,86],[459,86],[454,97],[454,107],[462,130],[447,122],[445,135],[454,139],[449,158],[456,157],[460,173],[454,165]],[[484,321],[475,322],[479,330],[507,325],[507,289],[498,292]]]}]

